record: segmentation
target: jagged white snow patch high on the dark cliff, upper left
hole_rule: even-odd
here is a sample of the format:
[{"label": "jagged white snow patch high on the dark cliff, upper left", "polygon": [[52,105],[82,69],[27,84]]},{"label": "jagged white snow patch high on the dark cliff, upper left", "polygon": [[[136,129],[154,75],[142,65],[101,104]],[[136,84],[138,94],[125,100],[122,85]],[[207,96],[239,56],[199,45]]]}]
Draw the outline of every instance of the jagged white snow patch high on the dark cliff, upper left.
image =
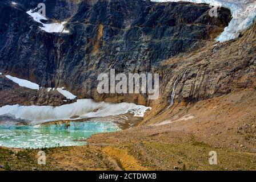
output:
[{"label": "jagged white snow patch high on the dark cliff, upper left", "polygon": [[64,24],[66,24],[67,22],[50,23],[50,24],[42,23],[41,20],[47,20],[47,18],[37,12],[33,13],[33,11],[34,10],[29,10],[26,13],[32,16],[35,22],[41,23],[43,25],[43,27],[39,27],[41,28],[41,30],[49,33],[52,33],[52,32],[69,33],[69,31],[65,30],[65,27],[64,27]]}]

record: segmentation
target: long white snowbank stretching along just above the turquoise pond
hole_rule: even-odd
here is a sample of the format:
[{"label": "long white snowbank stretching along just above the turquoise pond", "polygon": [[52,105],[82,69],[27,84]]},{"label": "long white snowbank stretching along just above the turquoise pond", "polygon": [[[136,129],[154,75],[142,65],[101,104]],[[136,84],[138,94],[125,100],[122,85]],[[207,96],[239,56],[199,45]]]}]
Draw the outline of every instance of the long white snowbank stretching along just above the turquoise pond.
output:
[{"label": "long white snowbank stretching along just above the turquoise pond", "polygon": [[107,117],[131,111],[143,116],[147,109],[151,109],[151,107],[128,103],[110,104],[103,101],[95,102],[91,99],[82,99],[73,104],[58,107],[7,105],[0,107],[0,115],[12,114],[15,118],[27,119],[32,123],[43,123],[65,119],[71,120],[70,118],[74,116],[79,116],[75,119]]}]

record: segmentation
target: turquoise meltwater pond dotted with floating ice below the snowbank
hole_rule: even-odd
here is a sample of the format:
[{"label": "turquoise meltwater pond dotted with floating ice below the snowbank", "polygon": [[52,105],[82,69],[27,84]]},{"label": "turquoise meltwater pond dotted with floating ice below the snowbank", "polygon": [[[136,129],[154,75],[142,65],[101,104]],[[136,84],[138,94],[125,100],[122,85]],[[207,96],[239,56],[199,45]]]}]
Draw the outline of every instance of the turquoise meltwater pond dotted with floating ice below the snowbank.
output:
[{"label": "turquoise meltwater pond dotted with floating ice below the snowbank", "polygon": [[111,122],[68,122],[51,125],[0,125],[0,146],[14,148],[44,148],[81,146],[79,139],[93,134],[118,131]]}]

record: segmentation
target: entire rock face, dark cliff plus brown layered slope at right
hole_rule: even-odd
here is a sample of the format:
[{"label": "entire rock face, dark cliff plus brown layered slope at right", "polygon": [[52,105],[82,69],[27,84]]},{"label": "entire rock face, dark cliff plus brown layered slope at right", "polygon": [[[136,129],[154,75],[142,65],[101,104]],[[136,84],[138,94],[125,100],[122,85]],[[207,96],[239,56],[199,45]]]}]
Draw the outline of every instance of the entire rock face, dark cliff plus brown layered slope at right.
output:
[{"label": "entire rock face, dark cliff plus brown layered slope at right", "polygon": [[[227,9],[219,9],[215,18],[206,4],[46,0],[49,22],[68,22],[69,34],[62,34],[42,31],[25,13],[38,2],[0,3],[0,72],[45,87],[65,86],[81,98],[151,106],[169,105],[174,98],[198,101],[254,84],[251,45],[242,39],[213,41],[231,20]],[[255,31],[250,35],[254,38]],[[237,46],[245,52],[235,51]],[[159,73],[159,100],[149,102],[143,94],[98,94],[97,76],[110,68]]]}]

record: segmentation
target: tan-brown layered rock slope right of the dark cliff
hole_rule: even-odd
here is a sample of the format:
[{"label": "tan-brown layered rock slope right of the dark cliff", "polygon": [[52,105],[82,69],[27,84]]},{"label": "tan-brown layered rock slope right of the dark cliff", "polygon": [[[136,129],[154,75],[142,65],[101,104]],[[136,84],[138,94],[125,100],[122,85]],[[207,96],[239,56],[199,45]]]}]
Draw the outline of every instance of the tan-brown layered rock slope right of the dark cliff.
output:
[{"label": "tan-brown layered rock slope right of the dark cliff", "polygon": [[[189,54],[181,54],[162,62],[167,76],[163,98],[175,86],[174,100],[195,102],[222,96],[245,88],[256,88],[256,23],[240,38],[225,43],[212,42]],[[174,81],[178,83],[174,85]],[[170,98],[170,97],[169,97]]]}]

